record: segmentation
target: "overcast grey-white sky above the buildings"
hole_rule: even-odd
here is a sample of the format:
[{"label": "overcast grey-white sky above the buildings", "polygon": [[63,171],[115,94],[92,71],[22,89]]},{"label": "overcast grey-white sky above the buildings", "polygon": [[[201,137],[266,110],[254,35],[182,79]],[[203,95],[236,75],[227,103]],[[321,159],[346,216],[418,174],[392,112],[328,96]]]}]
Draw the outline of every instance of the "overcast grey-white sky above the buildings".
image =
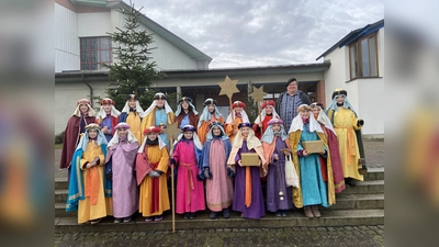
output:
[{"label": "overcast grey-white sky above the buildings", "polygon": [[146,16],[212,57],[210,68],[317,63],[350,31],[384,18],[384,0],[133,2],[136,9],[144,7]]}]

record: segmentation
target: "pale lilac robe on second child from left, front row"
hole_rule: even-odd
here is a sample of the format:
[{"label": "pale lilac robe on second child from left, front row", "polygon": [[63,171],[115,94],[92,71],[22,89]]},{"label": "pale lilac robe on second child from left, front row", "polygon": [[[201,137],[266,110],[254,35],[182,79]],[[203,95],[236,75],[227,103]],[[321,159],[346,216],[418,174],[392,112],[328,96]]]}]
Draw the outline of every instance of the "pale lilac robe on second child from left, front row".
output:
[{"label": "pale lilac robe on second child from left, front row", "polygon": [[137,212],[138,195],[136,178],[133,176],[138,143],[120,138],[117,145],[109,146],[106,160],[113,165],[113,215],[122,218]]}]

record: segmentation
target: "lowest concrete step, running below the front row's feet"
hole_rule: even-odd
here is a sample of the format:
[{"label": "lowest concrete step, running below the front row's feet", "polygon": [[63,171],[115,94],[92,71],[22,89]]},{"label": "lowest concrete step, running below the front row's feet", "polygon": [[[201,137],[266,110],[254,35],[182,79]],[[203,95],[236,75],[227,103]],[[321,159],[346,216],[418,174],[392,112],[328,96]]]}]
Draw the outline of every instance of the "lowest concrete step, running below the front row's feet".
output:
[{"label": "lowest concrete step, running below the front row's feet", "polygon": [[[210,229],[210,228],[279,228],[291,226],[361,226],[384,224],[384,210],[327,210],[322,211],[320,218],[307,218],[303,210],[290,212],[288,217],[275,217],[268,213],[261,220],[248,220],[239,217],[238,212],[232,212],[230,218],[209,218],[209,212],[199,213],[195,220],[183,220],[182,215],[176,215],[176,229]],[[63,232],[132,232],[132,231],[171,231],[172,216],[168,212],[161,222],[146,223],[142,215],[137,214],[130,223],[114,224],[114,218],[108,216],[95,225],[78,225],[77,217],[55,217],[55,233]]]}]

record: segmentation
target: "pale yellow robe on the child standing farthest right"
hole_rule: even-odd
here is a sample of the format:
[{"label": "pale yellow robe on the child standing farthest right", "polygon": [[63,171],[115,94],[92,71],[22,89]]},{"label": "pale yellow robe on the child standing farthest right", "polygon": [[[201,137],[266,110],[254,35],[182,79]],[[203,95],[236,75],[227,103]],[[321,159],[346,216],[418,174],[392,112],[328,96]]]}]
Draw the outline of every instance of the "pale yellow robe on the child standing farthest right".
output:
[{"label": "pale yellow robe on the child standing farthest right", "polygon": [[345,178],[353,178],[363,181],[363,176],[358,172],[360,151],[358,149],[354,131],[361,127],[357,126],[357,122],[358,117],[349,109],[338,108],[338,110],[334,112],[334,130],[338,138],[344,176]]}]

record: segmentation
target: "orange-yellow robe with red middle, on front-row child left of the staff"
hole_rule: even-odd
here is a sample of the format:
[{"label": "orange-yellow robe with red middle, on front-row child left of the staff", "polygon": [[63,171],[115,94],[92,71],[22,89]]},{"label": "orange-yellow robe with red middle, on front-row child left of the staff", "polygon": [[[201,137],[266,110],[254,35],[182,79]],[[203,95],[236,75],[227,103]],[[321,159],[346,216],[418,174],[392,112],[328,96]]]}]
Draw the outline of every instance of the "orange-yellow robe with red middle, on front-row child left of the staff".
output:
[{"label": "orange-yellow robe with red middle, on front-row child left of the staff", "polygon": [[159,211],[154,213],[150,212],[151,200],[153,200],[153,179],[146,176],[140,183],[140,197],[138,202],[138,212],[142,213],[144,217],[161,215],[164,211],[170,209],[169,206],[169,195],[168,195],[168,176],[166,171],[168,170],[169,155],[166,147],[159,148],[158,145],[148,146],[147,156],[150,162],[159,162],[157,170],[164,171],[159,177]]}]

